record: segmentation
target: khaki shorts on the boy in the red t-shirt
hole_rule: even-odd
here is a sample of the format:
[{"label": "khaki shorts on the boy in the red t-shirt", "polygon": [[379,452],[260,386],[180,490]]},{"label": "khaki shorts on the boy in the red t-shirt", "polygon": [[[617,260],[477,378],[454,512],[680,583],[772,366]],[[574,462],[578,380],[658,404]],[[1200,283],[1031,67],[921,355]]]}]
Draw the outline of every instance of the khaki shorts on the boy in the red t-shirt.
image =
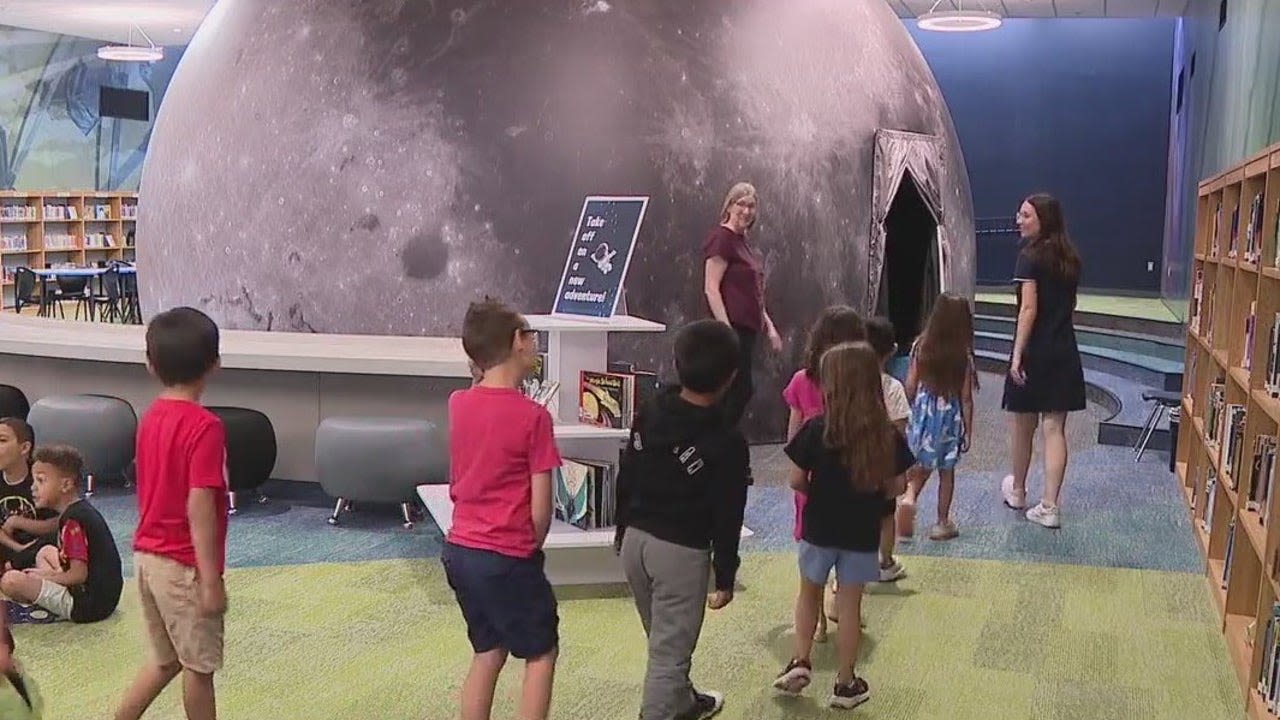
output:
[{"label": "khaki shorts on the boy in the red t-shirt", "polygon": [[200,614],[196,569],[159,555],[133,553],[142,616],[157,665],[212,674],[223,666],[223,616]]}]

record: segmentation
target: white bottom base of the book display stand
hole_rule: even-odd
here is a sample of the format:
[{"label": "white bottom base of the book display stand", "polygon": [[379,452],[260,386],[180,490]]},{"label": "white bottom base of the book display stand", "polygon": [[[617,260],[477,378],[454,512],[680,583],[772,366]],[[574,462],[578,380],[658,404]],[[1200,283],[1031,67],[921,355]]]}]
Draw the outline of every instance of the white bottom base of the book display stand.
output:
[{"label": "white bottom base of the book display stand", "polygon": [[[453,525],[453,501],[449,486],[417,486],[417,497],[444,536]],[[742,527],[741,537],[754,533]],[[626,583],[622,562],[613,553],[613,528],[584,530],[561,520],[552,520],[543,542],[547,555],[547,579],[552,585],[600,585]]]}]

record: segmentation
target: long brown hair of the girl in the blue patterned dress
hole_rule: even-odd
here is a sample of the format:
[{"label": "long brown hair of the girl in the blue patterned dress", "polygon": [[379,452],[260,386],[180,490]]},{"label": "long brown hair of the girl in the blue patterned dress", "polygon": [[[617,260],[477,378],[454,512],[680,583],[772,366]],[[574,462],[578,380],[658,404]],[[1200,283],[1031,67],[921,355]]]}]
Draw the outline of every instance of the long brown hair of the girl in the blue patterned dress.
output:
[{"label": "long brown hair of the girl in the blue patterned dress", "polygon": [[959,397],[973,354],[969,301],[952,292],[942,293],[933,305],[915,352],[915,377],[920,384],[934,395]]}]

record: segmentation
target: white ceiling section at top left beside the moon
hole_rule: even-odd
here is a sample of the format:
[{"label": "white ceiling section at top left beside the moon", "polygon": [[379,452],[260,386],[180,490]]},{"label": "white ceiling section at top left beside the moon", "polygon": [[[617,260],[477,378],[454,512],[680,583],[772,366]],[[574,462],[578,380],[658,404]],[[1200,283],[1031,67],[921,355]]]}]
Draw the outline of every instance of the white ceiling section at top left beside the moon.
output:
[{"label": "white ceiling section at top left beside the moon", "polygon": [[[156,45],[186,45],[216,0],[0,0],[0,24],[127,42],[136,24]],[[146,41],[133,33],[134,45]]]}]

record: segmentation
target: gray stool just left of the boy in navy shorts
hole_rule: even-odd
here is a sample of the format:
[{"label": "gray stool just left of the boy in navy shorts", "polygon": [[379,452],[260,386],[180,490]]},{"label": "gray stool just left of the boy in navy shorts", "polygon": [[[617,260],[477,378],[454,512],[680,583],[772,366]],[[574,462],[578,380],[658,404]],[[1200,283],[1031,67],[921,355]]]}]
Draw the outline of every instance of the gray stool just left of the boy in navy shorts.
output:
[{"label": "gray stool just left of the boy in navy shorts", "polygon": [[316,475],[338,498],[329,524],[351,502],[398,502],[404,528],[413,528],[415,488],[448,473],[435,424],[415,418],[325,418],[316,428]]}]

